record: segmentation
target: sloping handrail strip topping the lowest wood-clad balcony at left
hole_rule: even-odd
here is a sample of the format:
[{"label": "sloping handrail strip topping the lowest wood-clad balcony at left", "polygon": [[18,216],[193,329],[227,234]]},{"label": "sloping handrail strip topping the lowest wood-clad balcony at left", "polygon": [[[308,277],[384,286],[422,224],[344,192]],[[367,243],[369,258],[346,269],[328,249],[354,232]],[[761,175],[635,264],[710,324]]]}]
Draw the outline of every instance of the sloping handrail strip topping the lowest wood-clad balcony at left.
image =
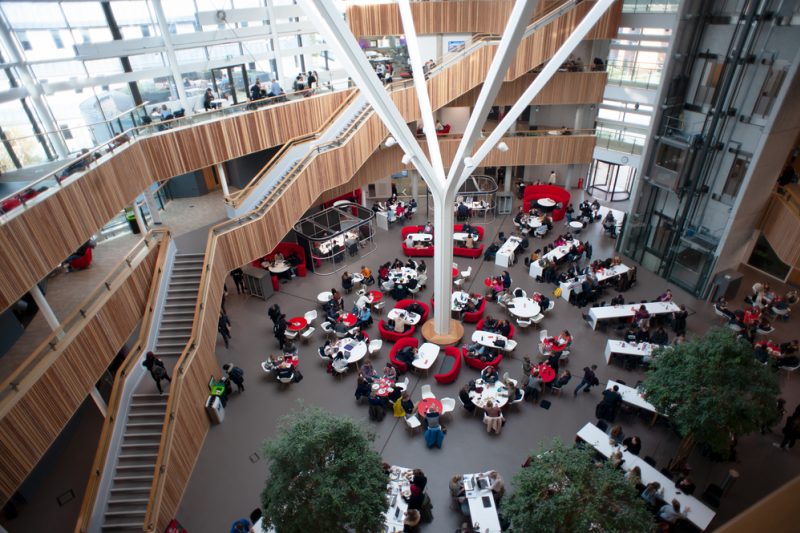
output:
[{"label": "sloping handrail strip topping the lowest wood-clad balcony at left", "polygon": [[0,417],[5,416],[16,400],[24,396],[36,380],[58,359],[58,354],[69,345],[74,335],[94,317],[105,303],[106,297],[127,279],[134,269],[136,257],[151,248],[162,237],[163,230],[151,231],[136,243],[125,259],[106,276],[81,305],[59,324],[58,329],[47,337],[11,377],[3,382],[0,387]]}]

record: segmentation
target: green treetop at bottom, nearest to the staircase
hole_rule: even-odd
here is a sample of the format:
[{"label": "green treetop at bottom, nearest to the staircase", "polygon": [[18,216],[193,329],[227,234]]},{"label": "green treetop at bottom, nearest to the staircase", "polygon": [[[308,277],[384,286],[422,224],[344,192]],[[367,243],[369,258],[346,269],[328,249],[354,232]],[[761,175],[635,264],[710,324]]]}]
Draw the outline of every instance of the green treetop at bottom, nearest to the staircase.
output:
[{"label": "green treetop at bottom, nearest to the staircase", "polygon": [[262,448],[271,462],[261,493],[265,528],[382,531],[386,474],[374,441],[375,434],[353,418],[318,407],[302,406],[284,416],[277,437]]}]

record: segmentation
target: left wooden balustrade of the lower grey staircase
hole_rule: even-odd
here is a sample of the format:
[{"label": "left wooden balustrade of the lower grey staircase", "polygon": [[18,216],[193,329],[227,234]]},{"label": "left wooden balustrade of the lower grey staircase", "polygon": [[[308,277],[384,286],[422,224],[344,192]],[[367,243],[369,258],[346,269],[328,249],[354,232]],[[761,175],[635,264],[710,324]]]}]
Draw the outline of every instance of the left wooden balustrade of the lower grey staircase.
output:
[{"label": "left wooden balustrade of the lower grey staircase", "polygon": [[114,386],[111,389],[111,397],[108,400],[106,419],[103,422],[103,429],[100,431],[100,440],[97,445],[97,452],[95,452],[94,462],[92,463],[92,471],[89,475],[86,492],[83,496],[81,510],[78,514],[78,522],[75,525],[75,533],[87,533],[89,531],[92,511],[94,510],[97,500],[97,491],[100,488],[100,482],[103,480],[106,458],[110,451],[111,439],[114,436],[114,427],[117,422],[117,415],[120,402],[122,401],[122,393],[125,389],[125,382],[133,369],[136,368],[142,352],[147,348],[147,340],[150,336],[150,329],[153,326],[153,309],[158,299],[161,279],[164,276],[164,263],[169,251],[169,243],[172,240],[172,232],[169,229],[157,229],[149,232],[149,234],[152,233],[163,233],[163,236],[161,238],[161,249],[158,251],[158,258],[156,259],[155,269],[153,270],[153,279],[150,282],[150,293],[147,297],[147,303],[145,304],[144,315],[142,316],[142,327],[139,331],[139,338],[136,344],[131,348],[131,351],[128,352],[125,360],[117,369],[117,374],[114,378]]}]

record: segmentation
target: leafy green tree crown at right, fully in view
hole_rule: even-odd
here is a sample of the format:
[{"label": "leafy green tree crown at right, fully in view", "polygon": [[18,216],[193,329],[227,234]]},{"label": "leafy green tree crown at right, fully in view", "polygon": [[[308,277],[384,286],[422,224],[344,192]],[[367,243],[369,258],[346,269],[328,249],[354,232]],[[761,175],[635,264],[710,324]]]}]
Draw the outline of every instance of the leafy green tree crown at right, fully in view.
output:
[{"label": "leafy green tree crown at right, fully in view", "polygon": [[733,438],[778,423],[778,379],[732,331],[711,328],[655,353],[641,386],[644,399],[684,437],[727,456]]}]

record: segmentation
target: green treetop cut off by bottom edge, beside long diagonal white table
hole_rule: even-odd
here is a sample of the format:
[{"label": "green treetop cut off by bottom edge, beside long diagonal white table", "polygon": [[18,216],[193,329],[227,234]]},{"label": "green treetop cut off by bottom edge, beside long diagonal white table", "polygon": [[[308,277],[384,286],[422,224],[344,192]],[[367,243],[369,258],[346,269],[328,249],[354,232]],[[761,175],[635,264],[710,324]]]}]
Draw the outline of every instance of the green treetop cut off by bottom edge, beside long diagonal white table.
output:
[{"label": "green treetop cut off by bottom edge, beside long diagonal white table", "polygon": [[653,531],[652,516],[624,472],[596,467],[593,453],[590,446],[565,448],[559,438],[553,439],[550,451],[540,444],[531,454],[531,465],[517,472],[512,492],[503,498],[503,512],[514,531]]}]

